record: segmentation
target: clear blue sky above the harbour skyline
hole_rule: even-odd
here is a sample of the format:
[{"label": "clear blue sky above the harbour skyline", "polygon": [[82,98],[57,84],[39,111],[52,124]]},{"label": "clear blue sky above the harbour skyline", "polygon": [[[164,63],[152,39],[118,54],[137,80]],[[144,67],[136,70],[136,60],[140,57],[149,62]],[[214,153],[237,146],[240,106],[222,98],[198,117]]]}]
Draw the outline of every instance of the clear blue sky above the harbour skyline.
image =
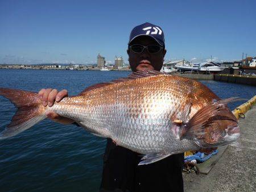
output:
[{"label": "clear blue sky above the harbour skyline", "polygon": [[0,64],[127,62],[133,27],[162,27],[165,61],[256,56],[256,1],[0,0]]}]

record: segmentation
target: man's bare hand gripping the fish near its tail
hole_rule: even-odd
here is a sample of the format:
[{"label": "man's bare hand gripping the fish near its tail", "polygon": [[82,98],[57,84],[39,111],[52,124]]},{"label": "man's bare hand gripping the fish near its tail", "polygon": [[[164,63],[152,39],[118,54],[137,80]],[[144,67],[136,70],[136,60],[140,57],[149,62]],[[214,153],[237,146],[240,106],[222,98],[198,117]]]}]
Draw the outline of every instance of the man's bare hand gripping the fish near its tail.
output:
[{"label": "man's bare hand gripping the fish near its tail", "polygon": [[[38,92],[38,95],[41,97],[44,107],[46,107],[47,105],[51,107],[55,102],[60,102],[61,99],[63,99],[64,97],[67,97],[68,91],[65,89],[60,92],[58,92],[57,89],[41,89]],[[57,123],[72,124],[75,122],[72,119],[65,118],[64,116],[60,116],[53,111],[48,111],[46,115],[49,119]]]}]

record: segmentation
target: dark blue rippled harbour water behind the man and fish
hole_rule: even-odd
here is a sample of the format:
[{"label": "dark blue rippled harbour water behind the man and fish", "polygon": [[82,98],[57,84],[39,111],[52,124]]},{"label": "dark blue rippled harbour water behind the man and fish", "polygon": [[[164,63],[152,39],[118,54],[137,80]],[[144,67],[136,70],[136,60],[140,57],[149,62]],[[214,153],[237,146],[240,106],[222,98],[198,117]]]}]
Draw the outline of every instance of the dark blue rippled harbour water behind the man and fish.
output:
[{"label": "dark blue rippled harbour water behind the man and fish", "polygon": [[[0,69],[0,87],[38,92],[67,89],[79,94],[85,87],[127,77],[130,72]],[[220,98],[250,99],[255,86],[201,81]],[[245,101],[230,103],[229,107]],[[0,97],[0,131],[10,123],[15,107]],[[106,139],[81,127],[43,120],[27,131],[0,140],[0,191],[98,191]]]}]

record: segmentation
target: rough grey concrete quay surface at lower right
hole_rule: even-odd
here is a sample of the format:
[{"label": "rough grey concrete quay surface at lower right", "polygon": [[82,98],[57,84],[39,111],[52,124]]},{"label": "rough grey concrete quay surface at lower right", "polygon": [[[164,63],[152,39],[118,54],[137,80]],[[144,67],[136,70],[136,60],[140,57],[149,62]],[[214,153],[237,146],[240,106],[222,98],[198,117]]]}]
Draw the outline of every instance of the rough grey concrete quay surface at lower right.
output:
[{"label": "rough grey concrete quay surface at lower right", "polygon": [[239,120],[241,137],[208,175],[184,173],[185,191],[256,191],[256,106]]}]

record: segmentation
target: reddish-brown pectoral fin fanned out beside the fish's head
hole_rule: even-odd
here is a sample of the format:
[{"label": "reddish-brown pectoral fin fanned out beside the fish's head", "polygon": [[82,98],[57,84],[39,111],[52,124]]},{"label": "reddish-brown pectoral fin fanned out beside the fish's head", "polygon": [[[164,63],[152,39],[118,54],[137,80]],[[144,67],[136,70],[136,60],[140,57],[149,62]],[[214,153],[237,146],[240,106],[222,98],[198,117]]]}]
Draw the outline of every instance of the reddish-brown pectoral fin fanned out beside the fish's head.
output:
[{"label": "reddish-brown pectoral fin fanned out beside the fish's head", "polygon": [[183,126],[181,126],[179,132],[176,135],[177,139],[205,139],[205,128],[209,127],[213,122],[216,122],[217,120],[234,121],[232,117],[225,116],[225,114],[223,114],[223,110],[228,108],[228,106],[226,106],[227,103],[240,100],[241,98],[239,97],[232,97],[210,103],[207,106],[201,108],[196,112],[191,120],[189,120],[188,123],[185,123]]}]

